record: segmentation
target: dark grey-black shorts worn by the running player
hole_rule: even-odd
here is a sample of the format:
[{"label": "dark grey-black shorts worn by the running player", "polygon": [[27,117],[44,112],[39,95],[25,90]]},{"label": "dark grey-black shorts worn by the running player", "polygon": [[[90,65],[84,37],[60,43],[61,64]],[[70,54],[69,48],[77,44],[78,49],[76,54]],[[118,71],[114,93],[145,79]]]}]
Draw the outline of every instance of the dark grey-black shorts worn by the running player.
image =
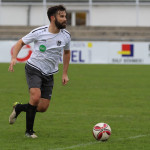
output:
[{"label": "dark grey-black shorts worn by the running player", "polygon": [[41,98],[51,99],[54,86],[53,75],[45,76],[39,70],[25,65],[26,79],[29,89],[40,88]]}]

